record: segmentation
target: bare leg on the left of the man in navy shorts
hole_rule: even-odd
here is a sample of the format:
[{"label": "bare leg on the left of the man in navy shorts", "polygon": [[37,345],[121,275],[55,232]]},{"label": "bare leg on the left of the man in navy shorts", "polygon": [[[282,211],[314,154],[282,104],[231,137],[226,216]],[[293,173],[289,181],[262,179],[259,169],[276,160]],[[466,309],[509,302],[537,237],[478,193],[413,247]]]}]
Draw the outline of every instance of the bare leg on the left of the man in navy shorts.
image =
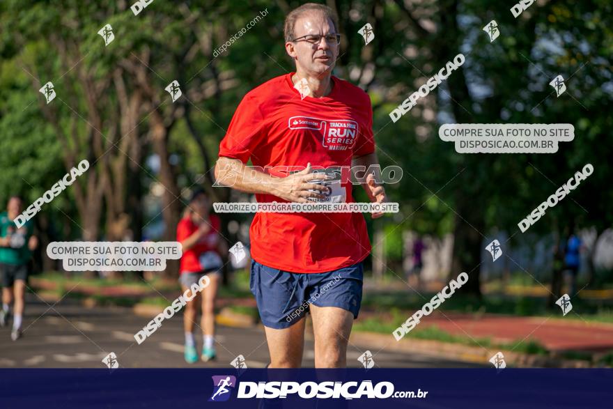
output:
[{"label": "bare leg on the left of the man in navy shorts", "polygon": [[284,330],[264,327],[270,352],[269,368],[300,368],[304,350],[305,319]]}]

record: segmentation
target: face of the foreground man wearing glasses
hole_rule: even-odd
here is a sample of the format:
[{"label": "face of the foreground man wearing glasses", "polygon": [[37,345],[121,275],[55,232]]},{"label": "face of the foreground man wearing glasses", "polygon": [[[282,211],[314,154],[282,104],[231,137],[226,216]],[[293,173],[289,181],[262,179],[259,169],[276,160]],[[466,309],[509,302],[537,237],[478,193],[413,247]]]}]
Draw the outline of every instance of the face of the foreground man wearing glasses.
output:
[{"label": "face of the foreground man wearing glasses", "polygon": [[339,56],[339,45],[336,41],[327,41],[320,38],[313,42],[313,38],[304,38],[309,35],[326,36],[336,34],[334,24],[323,13],[305,13],[296,20],[294,38],[300,40],[288,43],[288,53],[296,58],[296,68],[311,75],[331,73],[336,58]]}]

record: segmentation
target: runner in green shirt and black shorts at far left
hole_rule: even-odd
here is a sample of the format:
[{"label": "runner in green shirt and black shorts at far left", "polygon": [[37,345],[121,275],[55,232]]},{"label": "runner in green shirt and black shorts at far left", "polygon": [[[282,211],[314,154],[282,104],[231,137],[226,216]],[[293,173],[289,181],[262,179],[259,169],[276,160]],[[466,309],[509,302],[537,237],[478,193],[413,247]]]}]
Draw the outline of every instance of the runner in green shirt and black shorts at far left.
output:
[{"label": "runner in green shirt and black shorts at far left", "polygon": [[24,293],[29,275],[28,262],[31,251],[36,249],[38,239],[33,236],[33,224],[29,220],[19,229],[14,220],[22,213],[22,199],[12,196],[8,199],[7,211],[0,213],[0,279],[2,284],[2,309],[0,326],[10,319],[10,304],[15,298],[13,330],[10,338],[17,341],[22,336],[24,314]]}]

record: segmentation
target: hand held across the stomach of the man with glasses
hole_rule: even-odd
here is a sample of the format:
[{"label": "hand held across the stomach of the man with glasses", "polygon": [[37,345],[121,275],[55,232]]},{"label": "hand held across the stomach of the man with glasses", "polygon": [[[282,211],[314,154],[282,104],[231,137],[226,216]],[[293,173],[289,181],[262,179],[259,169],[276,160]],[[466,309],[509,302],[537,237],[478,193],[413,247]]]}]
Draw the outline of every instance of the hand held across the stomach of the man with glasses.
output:
[{"label": "hand held across the stomach of the man with glasses", "polygon": [[286,201],[297,203],[309,203],[311,198],[325,199],[325,196],[317,192],[329,192],[329,188],[317,183],[308,183],[309,180],[328,178],[322,173],[312,173],[311,163],[300,172],[292,173],[285,178],[272,180],[271,194]]}]

